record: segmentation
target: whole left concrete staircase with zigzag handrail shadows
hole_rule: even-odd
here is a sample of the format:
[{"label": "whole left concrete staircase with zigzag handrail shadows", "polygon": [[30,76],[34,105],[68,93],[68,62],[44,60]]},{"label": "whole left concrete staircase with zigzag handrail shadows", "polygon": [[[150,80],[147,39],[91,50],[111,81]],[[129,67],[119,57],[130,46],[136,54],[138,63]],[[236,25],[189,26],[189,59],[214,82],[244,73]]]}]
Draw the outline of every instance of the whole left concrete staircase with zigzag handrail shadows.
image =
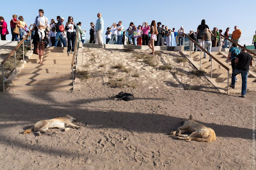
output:
[{"label": "whole left concrete staircase with zigzag handrail shadows", "polygon": [[72,57],[63,47],[47,48],[42,64],[38,64],[38,55],[30,55],[10,90],[71,90]]}]

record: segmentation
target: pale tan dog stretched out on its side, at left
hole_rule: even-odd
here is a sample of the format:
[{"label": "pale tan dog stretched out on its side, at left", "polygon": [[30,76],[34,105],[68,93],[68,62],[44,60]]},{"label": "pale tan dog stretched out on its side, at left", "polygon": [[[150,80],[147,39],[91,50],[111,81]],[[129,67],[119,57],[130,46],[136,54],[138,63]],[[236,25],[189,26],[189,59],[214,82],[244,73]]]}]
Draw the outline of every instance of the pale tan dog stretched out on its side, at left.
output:
[{"label": "pale tan dog stretched out on its side, at left", "polygon": [[31,128],[26,129],[23,134],[30,134],[31,131],[34,131],[36,134],[41,135],[41,132],[47,132],[48,129],[52,128],[63,129],[64,131],[68,131],[70,127],[77,129],[80,126],[72,124],[74,120],[76,120],[76,118],[71,117],[70,115],[66,115],[65,117],[52,118],[49,120],[40,120],[39,122],[36,122],[36,124]]}]

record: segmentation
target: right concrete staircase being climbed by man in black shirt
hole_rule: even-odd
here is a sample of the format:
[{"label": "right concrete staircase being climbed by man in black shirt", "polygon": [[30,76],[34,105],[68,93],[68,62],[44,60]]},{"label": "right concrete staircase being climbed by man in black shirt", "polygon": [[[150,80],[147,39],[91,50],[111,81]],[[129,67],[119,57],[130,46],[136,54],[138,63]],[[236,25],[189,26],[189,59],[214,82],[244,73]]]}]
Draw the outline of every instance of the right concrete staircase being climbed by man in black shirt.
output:
[{"label": "right concrete staircase being climbed by man in black shirt", "polygon": [[[189,57],[189,51],[182,52],[185,57],[191,61],[191,63],[197,68],[200,69],[200,53],[201,52],[191,52],[191,58]],[[227,66],[229,71],[229,85],[231,84],[231,74],[232,67],[231,62],[225,62],[227,59],[227,52],[212,52],[212,55],[220,60],[225,66]],[[202,57],[204,57],[204,52],[202,52]],[[211,62],[209,61],[209,55],[207,55],[206,59],[202,58],[202,67],[205,71],[205,77],[221,92],[227,93],[227,81],[228,81],[228,71],[222,67],[218,62],[212,59],[212,78],[211,78]],[[228,85],[228,86],[229,86]],[[241,74],[237,75],[236,89],[228,88],[228,92],[230,93],[241,93],[242,87],[242,79]],[[247,79],[247,90],[248,91],[256,91],[256,74],[252,71],[249,71],[248,79]]]}]

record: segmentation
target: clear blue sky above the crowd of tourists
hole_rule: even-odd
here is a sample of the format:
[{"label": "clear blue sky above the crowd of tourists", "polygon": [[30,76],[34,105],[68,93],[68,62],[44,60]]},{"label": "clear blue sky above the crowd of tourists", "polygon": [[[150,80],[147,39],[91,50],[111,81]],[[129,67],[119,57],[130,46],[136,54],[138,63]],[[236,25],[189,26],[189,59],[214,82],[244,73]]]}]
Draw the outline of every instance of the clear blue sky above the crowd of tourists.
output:
[{"label": "clear blue sky above the crowd of tourists", "polygon": [[[14,5],[13,5],[14,4]],[[242,31],[241,45],[252,45],[252,38],[256,31],[255,8],[256,0],[227,0],[227,1],[72,1],[72,0],[44,0],[44,1],[4,1],[1,6],[0,16],[4,17],[10,31],[10,20],[13,14],[22,15],[29,25],[38,15],[38,9],[42,8],[44,16],[49,20],[60,15],[67,21],[68,16],[74,17],[74,22],[82,22],[82,28],[90,29],[90,22],[96,22],[97,13],[102,13],[104,29],[113,22],[122,20],[125,29],[130,22],[136,26],[143,22],[156,20],[169,28],[176,30],[183,25],[186,33],[189,30],[196,31],[197,26],[205,19],[210,29],[218,27],[223,31],[230,27],[234,31],[237,25]],[[86,32],[86,39],[89,32]],[[7,36],[11,39],[11,35]]]}]

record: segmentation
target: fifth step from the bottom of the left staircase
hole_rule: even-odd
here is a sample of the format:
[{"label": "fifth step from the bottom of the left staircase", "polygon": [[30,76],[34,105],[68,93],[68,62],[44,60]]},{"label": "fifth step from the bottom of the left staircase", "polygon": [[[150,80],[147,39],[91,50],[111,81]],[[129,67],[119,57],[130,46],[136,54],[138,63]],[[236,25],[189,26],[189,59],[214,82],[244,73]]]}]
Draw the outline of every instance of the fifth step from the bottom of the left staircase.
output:
[{"label": "fifth step from the bottom of the left staircase", "polygon": [[47,69],[47,68],[63,68],[63,69],[71,69],[71,64],[37,64],[28,62],[24,64],[25,68],[36,68],[36,69]]}]

